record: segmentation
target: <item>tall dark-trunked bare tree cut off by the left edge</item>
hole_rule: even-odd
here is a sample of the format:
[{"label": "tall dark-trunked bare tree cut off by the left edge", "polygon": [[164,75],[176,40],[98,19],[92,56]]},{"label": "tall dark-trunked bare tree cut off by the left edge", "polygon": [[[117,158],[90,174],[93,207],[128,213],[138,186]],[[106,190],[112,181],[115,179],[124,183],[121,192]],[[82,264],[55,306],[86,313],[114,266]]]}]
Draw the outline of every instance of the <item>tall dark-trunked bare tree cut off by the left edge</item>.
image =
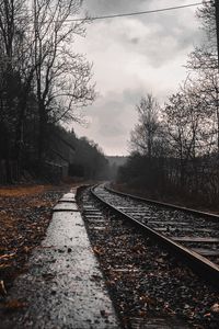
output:
[{"label": "tall dark-trunked bare tree cut off by the left edge", "polygon": [[[25,0],[0,1],[0,121],[8,135],[3,158],[20,159],[22,124],[27,105],[33,70],[27,64],[30,44]],[[5,133],[8,132],[8,133]]]}]

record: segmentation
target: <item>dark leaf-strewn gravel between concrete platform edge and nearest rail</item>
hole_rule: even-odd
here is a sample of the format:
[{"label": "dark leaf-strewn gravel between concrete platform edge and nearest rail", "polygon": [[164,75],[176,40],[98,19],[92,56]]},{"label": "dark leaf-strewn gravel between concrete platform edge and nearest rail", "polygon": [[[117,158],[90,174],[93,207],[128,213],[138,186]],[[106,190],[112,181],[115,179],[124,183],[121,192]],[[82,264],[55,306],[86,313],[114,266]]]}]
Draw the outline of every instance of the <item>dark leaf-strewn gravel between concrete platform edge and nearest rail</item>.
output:
[{"label": "dark leaf-strewn gravel between concrete platform edge and nearest rail", "polygon": [[[216,287],[124,218],[103,208],[88,191],[80,205],[124,328],[219,328]],[[101,217],[92,218],[88,205],[97,207]],[[159,319],[160,325],[153,326]]]}]

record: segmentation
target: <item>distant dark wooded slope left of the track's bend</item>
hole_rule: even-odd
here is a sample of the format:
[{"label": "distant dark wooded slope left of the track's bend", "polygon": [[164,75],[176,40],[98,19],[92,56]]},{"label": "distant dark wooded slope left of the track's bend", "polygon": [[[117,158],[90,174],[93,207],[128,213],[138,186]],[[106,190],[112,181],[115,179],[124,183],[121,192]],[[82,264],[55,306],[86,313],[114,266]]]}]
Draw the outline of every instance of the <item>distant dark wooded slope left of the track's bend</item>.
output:
[{"label": "distant dark wooded slope left of the track's bend", "polygon": [[59,163],[66,174],[78,179],[103,180],[107,178],[110,163],[97,144],[87,137],[78,138],[73,131],[61,126],[50,127],[48,157],[50,163]]}]

